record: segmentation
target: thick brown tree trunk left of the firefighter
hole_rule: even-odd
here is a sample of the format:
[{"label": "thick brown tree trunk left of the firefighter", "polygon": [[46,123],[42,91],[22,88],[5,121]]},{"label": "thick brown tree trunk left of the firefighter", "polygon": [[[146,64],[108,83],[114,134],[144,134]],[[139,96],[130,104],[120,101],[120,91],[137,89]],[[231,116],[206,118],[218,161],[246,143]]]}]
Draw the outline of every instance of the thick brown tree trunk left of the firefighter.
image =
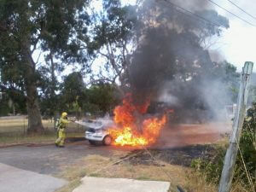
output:
[{"label": "thick brown tree trunk left of the firefighter", "polygon": [[[27,38],[28,39],[28,38]],[[26,106],[28,114],[28,128],[27,133],[38,133],[44,131],[42,124],[41,113],[38,105],[38,90],[37,90],[37,78],[35,75],[35,63],[32,60],[32,52],[30,49],[29,41],[25,39],[22,42],[22,55],[24,58],[24,72],[25,87],[26,87]]]}]

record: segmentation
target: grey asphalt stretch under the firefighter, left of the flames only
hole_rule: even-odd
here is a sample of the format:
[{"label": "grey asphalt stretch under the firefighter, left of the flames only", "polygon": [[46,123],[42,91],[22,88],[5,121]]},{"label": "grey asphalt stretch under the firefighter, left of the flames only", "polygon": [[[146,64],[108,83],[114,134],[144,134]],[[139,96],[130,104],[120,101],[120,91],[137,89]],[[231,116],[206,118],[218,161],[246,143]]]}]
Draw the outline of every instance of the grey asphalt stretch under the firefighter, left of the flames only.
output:
[{"label": "grey asphalt stretch under the firefighter, left of the flames only", "polygon": [[90,154],[111,156],[113,150],[110,148],[112,147],[90,146],[87,141],[69,143],[65,148],[56,148],[54,144],[0,148],[0,163],[51,175],[60,172],[62,166],[72,165]]}]

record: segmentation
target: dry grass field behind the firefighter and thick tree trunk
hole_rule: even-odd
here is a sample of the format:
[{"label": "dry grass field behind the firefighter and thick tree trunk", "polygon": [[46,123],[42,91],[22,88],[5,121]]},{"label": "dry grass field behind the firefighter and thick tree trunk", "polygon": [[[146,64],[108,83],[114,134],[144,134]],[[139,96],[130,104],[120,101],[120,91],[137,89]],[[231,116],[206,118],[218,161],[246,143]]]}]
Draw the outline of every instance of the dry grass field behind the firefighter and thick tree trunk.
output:
[{"label": "dry grass field behind the firefighter and thick tree trunk", "polygon": [[[44,133],[35,136],[26,135],[27,119],[0,119],[0,146],[20,143],[52,143],[55,141],[54,122],[43,120]],[[84,137],[80,125],[67,125],[67,137]]]}]

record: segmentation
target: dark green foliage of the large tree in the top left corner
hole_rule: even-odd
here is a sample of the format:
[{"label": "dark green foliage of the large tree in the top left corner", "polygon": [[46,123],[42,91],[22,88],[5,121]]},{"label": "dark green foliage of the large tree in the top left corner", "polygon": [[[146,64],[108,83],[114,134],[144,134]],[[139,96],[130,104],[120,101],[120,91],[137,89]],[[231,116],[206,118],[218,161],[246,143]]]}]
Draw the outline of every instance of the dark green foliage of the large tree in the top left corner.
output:
[{"label": "dark green foliage of the large tree in the top left corner", "polygon": [[[73,56],[78,58],[82,54],[77,45],[79,43],[75,44],[71,38],[74,38],[75,32],[81,38],[81,30],[86,29],[84,23],[89,20],[83,10],[86,3],[84,0],[1,1],[0,63],[4,79],[24,83],[25,44],[32,49],[28,52],[30,56],[38,49],[49,51],[57,60],[72,61]],[[50,58],[47,56],[45,59],[49,61]]]}]

